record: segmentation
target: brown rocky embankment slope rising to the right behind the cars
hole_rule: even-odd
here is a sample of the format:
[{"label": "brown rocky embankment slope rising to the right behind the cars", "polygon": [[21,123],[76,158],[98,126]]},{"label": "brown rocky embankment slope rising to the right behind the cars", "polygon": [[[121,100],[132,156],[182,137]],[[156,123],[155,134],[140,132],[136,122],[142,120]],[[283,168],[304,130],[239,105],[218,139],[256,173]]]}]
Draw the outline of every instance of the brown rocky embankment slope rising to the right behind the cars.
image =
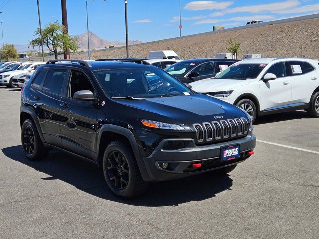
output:
[{"label": "brown rocky embankment slope rising to the right behind the cars", "polygon": [[[182,59],[215,57],[227,52],[229,38],[241,42],[238,58],[243,54],[260,53],[263,57],[303,56],[319,58],[319,18],[241,30],[208,33],[167,39],[131,46],[130,57],[146,57],[151,50],[174,50]],[[92,52],[94,58],[125,57],[125,47]],[[87,53],[72,57],[86,59]]]}]

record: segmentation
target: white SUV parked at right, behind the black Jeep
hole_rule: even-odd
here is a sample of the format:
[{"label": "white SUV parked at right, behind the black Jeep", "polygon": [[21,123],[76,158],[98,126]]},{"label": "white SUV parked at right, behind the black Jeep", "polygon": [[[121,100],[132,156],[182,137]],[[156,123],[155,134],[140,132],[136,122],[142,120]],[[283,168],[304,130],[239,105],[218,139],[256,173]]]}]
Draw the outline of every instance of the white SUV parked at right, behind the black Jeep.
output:
[{"label": "white SUV parked at right, behind the black Jeep", "polygon": [[319,117],[319,62],[306,58],[255,58],[236,62],[215,78],[190,83],[257,116],[307,110]]}]

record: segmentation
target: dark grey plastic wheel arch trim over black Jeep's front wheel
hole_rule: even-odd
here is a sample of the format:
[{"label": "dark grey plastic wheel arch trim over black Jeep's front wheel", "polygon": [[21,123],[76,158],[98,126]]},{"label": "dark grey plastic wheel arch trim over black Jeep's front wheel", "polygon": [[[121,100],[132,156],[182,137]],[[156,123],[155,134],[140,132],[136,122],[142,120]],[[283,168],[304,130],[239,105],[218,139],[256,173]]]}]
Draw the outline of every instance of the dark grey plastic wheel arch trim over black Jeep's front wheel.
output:
[{"label": "dark grey plastic wheel arch trim over black Jeep's front wheel", "polygon": [[103,154],[107,145],[114,140],[119,140],[128,144],[134,154],[143,180],[149,181],[150,177],[146,171],[142,155],[139,151],[139,146],[133,133],[129,129],[121,126],[105,124],[101,127],[97,140],[97,160],[99,168],[102,168]]}]

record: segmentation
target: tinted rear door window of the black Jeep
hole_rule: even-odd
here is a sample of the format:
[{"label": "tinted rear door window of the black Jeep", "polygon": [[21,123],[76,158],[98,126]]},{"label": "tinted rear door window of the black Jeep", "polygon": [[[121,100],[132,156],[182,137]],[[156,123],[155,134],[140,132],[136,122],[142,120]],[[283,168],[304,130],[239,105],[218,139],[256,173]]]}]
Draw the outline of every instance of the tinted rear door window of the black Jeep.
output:
[{"label": "tinted rear door window of the black Jeep", "polygon": [[44,80],[43,90],[60,95],[66,73],[67,69],[49,70]]}]

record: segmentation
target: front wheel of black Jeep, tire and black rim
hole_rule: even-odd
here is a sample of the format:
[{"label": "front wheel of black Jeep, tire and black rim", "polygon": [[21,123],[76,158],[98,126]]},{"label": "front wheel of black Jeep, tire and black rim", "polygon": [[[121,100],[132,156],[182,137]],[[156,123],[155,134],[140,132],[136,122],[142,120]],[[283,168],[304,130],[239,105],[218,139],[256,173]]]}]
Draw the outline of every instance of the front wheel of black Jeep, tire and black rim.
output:
[{"label": "front wheel of black Jeep, tire and black rim", "polygon": [[120,141],[111,142],[103,155],[103,175],[111,191],[120,198],[143,194],[148,183],[143,181],[130,148]]}]

